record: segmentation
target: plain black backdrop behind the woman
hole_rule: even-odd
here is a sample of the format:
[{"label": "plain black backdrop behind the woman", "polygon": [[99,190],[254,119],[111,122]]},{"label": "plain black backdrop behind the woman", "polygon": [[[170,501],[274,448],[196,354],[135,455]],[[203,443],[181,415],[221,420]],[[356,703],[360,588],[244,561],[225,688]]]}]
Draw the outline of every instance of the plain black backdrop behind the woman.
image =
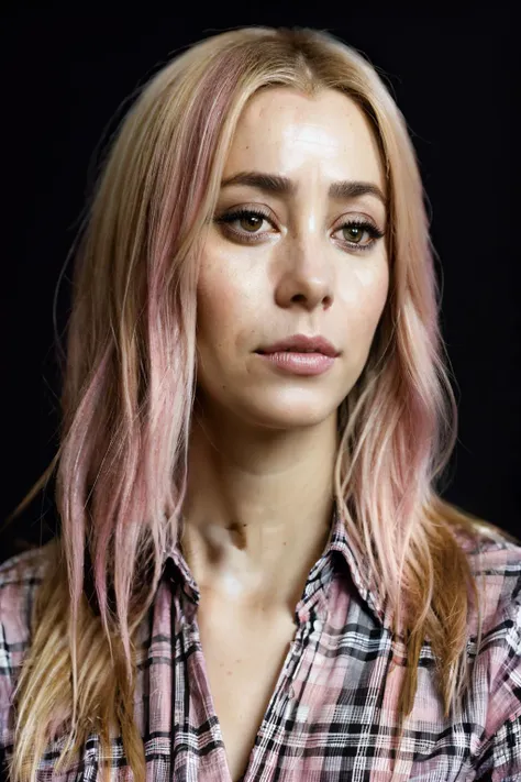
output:
[{"label": "plain black backdrop behind the woman", "polygon": [[[513,18],[498,3],[445,13],[383,12],[373,3],[366,4],[370,12],[342,3],[323,13],[250,4],[233,14],[220,4],[210,18],[197,8],[190,18],[187,8],[165,13],[146,3],[137,13],[129,4],[58,11],[18,3],[1,12],[0,525],[55,453],[53,298],[102,137],[114,130],[129,96],[176,49],[232,26],[262,24],[329,30],[364,52],[390,82],[419,155],[443,269],[442,329],[459,410],[444,496],[518,535]],[[67,267],[57,294],[60,334],[69,275]],[[41,544],[55,535],[53,491],[52,482],[2,533],[0,561],[23,539]]]}]

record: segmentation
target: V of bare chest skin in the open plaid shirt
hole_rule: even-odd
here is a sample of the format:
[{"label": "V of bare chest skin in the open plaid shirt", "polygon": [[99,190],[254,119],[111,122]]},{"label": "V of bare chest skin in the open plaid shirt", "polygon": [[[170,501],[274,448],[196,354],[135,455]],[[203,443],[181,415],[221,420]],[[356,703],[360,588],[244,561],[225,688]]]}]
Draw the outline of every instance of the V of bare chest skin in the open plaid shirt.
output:
[{"label": "V of bare chest skin in the open plaid shirt", "polygon": [[223,608],[198,612],[210,693],[232,782],[245,772],[255,737],[288,656],[289,612],[263,617]]}]

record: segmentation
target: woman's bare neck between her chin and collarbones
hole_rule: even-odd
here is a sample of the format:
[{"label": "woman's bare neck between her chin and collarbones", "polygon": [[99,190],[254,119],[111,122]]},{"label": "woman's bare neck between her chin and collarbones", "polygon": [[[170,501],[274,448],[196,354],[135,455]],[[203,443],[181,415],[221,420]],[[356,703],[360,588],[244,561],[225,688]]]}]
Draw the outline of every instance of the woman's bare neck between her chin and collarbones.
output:
[{"label": "woman's bare neck between her chin and collarbones", "polygon": [[295,610],[331,529],[336,414],[245,436],[195,419],[181,547],[201,594]]}]

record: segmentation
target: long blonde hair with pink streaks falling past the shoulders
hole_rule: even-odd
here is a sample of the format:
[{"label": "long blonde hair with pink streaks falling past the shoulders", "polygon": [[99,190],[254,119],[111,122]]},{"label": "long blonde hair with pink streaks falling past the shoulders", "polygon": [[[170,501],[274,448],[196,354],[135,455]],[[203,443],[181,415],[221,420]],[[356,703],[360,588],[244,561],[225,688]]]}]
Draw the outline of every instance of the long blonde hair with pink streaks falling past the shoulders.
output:
[{"label": "long blonde hair with pink streaks falling past the shoulders", "polygon": [[78,234],[59,448],[9,517],[56,470],[62,530],[44,547],[48,565],[15,687],[13,782],[34,782],[58,728],[68,740],[57,770],[92,730],[110,758],[111,736],[121,731],[134,779],[145,780],[133,716],[135,639],[177,540],[187,486],[201,238],[241,112],[275,85],[310,97],[340,90],[366,113],[379,145],[389,296],[366,366],[339,408],[335,502],[406,650],[400,725],[412,709],[425,640],[445,716],[468,686],[467,619],[472,606],[481,615],[462,535],[473,546],[498,528],[440,496],[457,407],[407,123],[377,70],[331,34],[232,30],[178,53],[140,87]]}]

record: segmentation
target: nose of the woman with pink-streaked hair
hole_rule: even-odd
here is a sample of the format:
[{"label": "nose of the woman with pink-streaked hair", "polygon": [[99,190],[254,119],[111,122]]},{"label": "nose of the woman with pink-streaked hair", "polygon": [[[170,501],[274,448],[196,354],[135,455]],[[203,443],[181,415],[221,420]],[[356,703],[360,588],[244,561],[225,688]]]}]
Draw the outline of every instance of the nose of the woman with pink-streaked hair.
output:
[{"label": "nose of the woman with pink-streaked hair", "polygon": [[329,309],[334,297],[334,266],[320,239],[289,240],[281,252],[285,257],[279,258],[281,273],[275,291],[279,307],[298,302],[308,310],[319,306]]}]

